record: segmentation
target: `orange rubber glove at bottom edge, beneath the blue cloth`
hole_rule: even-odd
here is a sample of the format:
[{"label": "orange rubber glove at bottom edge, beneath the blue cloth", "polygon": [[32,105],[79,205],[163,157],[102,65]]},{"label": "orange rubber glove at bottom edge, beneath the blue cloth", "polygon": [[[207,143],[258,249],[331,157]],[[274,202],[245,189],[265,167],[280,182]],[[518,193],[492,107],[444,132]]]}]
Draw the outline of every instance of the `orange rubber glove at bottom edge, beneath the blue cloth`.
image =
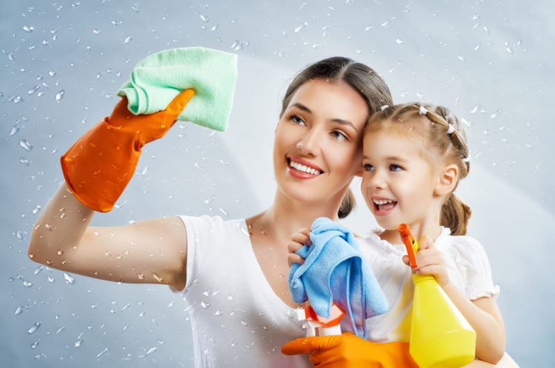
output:
[{"label": "orange rubber glove at bottom edge, beneath the blue cloth", "polygon": [[308,353],[310,361],[318,368],[418,368],[409,354],[409,344],[405,342],[379,344],[348,332],[341,336],[299,338],[284,344],[282,353],[288,356]]}]

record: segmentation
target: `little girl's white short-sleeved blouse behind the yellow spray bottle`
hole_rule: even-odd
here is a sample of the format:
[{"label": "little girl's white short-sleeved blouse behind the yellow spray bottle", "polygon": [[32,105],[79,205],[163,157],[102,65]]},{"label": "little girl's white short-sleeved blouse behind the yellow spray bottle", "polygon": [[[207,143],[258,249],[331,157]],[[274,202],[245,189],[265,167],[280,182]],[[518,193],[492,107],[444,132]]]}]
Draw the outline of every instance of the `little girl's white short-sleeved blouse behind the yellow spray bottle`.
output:
[{"label": "little girl's white short-sleeved blouse behind the yellow spray bottle", "polygon": [[[379,238],[383,229],[375,229],[367,238],[359,239],[361,252],[382,286],[389,311],[366,319],[368,340],[376,342],[409,342],[414,283],[411,269],[402,261],[407,254],[404,245],[392,245]],[[443,252],[450,280],[470,300],[497,297],[491,268],[484,247],[470,236],[451,236],[442,227],[434,245]]]}]

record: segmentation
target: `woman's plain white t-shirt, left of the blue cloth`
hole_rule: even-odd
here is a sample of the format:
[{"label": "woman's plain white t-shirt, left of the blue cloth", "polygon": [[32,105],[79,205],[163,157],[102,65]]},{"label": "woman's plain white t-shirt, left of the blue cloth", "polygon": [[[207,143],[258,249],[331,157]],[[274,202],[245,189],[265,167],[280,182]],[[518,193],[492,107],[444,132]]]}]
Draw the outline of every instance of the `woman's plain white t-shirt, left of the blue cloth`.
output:
[{"label": "woman's plain white t-shirt, left of the blue cloth", "polygon": [[273,292],[244,219],[180,216],[187,229],[187,284],[196,367],[311,367],[306,354],[284,356],[306,335]]}]

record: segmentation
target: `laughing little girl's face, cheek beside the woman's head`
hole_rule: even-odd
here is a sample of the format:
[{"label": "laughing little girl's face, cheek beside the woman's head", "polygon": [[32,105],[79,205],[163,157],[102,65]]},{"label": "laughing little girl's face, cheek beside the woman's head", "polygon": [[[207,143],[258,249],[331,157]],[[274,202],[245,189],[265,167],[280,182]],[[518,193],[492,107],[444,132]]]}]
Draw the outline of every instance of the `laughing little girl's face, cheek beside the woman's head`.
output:
[{"label": "laughing little girl's face, cheek beside the woman's head", "polygon": [[427,225],[441,200],[438,175],[422,158],[422,143],[401,127],[368,131],[364,137],[361,191],[378,224],[394,230],[401,223]]}]

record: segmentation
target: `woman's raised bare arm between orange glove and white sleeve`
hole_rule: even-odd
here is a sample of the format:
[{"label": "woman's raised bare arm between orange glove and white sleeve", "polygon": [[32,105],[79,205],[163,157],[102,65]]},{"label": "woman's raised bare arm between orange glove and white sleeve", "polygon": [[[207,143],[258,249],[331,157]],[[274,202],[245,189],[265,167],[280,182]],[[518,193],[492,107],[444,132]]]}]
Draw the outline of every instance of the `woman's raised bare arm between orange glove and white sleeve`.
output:
[{"label": "woman's raised bare arm between orange glove and white sleeve", "polygon": [[89,227],[93,214],[62,184],[35,224],[29,257],[96,279],[185,287],[187,237],[180,218]]}]

